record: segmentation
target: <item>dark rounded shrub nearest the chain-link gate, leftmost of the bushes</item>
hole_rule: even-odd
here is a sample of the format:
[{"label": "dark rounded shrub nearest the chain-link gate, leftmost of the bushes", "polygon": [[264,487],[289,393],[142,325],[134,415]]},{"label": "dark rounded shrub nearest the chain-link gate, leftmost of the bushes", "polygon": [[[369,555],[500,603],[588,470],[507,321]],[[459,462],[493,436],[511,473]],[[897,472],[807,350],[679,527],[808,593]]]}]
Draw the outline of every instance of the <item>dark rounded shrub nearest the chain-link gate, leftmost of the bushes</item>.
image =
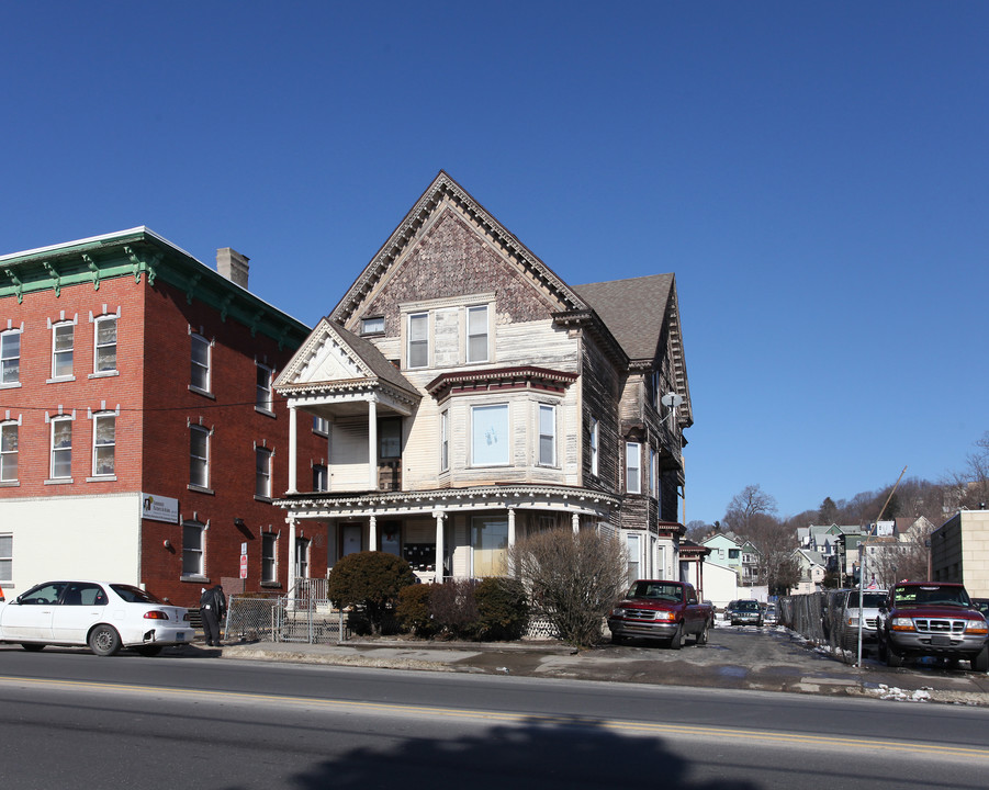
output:
[{"label": "dark rounded shrub nearest the chain-link gate, leftmost of the bushes", "polygon": [[371,629],[381,633],[385,611],[394,606],[398,591],[415,580],[412,567],[402,557],[386,552],[357,552],[334,565],[327,594],[340,608],[363,607]]}]

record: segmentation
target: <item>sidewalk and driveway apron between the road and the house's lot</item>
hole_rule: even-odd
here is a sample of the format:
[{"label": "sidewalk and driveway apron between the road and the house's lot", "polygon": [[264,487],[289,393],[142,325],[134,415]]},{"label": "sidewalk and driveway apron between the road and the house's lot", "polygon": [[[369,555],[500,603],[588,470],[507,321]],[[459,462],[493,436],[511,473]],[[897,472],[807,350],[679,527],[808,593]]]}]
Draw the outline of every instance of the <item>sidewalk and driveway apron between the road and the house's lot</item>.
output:
[{"label": "sidewalk and driveway apron between the road and the house's lot", "polygon": [[[196,645],[196,647],[200,647]],[[559,642],[463,643],[358,639],[342,645],[240,643],[200,647],[227,659],[299,662],[663,686],[869,697],[989,706],[989,675],[932,664],[889,669],[873,658],[854,667],[785,629],[718,628],[707,645],[681,651],[640,642],[574,651]]]}]

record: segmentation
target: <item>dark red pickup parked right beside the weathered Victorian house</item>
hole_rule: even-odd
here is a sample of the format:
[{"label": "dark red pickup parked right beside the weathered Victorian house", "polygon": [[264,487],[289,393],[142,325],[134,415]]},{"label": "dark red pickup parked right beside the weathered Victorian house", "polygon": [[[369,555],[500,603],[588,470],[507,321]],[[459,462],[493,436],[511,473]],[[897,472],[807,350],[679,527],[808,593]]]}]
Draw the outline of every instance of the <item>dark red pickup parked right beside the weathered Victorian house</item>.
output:
[{"label": "dark red pickup parked right beside the weathered Victorian house", "polygon": [[713,607],[697,600],[693,585],[662,579],[636,582],[608,617],[612,644],[629,637],[656,639],[673,650],[683,647],[687,634],[694,635],[695,644],[705,644],[713,622]]}]

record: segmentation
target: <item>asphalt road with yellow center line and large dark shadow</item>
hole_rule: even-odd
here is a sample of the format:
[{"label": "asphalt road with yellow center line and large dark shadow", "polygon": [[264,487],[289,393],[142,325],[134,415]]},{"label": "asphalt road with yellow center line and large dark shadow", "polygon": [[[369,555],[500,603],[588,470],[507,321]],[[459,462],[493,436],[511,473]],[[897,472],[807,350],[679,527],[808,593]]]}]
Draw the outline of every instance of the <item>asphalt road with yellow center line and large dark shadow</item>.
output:
[{"label": "asphalt road with yellow center line and large dark shadow", "polygon": [[984,786],[989,710],[0,648],[11,788]]}]

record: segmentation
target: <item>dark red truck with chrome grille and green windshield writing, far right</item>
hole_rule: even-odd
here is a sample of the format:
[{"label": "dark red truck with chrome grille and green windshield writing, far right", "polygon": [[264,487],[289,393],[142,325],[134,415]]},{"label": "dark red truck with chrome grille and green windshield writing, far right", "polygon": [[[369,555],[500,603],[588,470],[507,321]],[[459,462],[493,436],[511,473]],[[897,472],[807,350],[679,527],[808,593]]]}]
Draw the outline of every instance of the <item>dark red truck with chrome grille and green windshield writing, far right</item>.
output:
[{"label": "dark red truck with chrome grille and green windshield writing, far right", "polygon": [[989,625],[959,584],[894,585],[879,609],[877,633],[879,658],[888,666],[935,656],[969,661],[975,672],[989,670]]}]

